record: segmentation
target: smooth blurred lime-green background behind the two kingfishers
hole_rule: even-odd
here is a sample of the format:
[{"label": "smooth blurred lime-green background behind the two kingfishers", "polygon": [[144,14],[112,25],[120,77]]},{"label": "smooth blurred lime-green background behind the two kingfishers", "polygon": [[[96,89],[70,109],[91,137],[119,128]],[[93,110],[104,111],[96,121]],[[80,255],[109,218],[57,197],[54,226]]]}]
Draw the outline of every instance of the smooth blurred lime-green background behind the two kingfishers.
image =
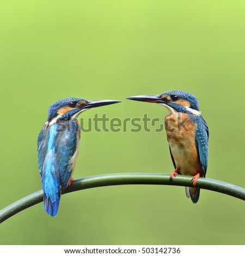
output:
[{"label": "smooth blurred lime-green background behind the two kingfishers", "polygon": [[[245,187],[244,1],[0,2],[0,209],[41,189],[36,139],[63,97],[117,99],[107,117],[164,118],[126,96],[181,89],[210,128],[207,177]],[[84,125],[85,126],[85,125]],[[130,129],[130,125],[128,125]],[[83,133],[74,178],[174,170],[165,132]],[[244,244],[242,200],[183,187],[127,185],[65,194],[57,217],[35,205],[0,226],[2,245]]]}]

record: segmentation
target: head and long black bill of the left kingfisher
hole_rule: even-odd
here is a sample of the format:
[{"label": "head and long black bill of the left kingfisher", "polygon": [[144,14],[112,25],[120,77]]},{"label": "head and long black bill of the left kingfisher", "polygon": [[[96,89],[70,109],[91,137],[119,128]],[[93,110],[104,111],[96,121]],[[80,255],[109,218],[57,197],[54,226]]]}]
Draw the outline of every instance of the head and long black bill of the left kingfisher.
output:
[{"label": "head and long black bill of the left kingfisher", "polygon": [[53,103],[48,108],[47,122],[51,125],[57,121],[66,121],[77,118],[83,111],[105,105],[118,103],[118,100],[85,100],[83,98],[69,97]]}]

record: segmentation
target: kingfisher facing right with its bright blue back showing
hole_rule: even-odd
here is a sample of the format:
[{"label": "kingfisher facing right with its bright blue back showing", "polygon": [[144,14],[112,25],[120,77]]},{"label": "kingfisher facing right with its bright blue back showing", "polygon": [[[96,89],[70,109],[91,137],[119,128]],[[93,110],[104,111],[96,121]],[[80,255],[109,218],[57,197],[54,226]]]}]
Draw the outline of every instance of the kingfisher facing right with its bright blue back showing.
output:
[{"label": "kingfisher facing right with its bright blue back showing", "polygon": [[118,102],[121,101],[68,97],[48,108],[47,121],[38,136],[39,174],[44,190],[44,211],[48,215],[57,215],[60,194],[74,181],[72,174],[81,137],[78,115],[93,107]]}]

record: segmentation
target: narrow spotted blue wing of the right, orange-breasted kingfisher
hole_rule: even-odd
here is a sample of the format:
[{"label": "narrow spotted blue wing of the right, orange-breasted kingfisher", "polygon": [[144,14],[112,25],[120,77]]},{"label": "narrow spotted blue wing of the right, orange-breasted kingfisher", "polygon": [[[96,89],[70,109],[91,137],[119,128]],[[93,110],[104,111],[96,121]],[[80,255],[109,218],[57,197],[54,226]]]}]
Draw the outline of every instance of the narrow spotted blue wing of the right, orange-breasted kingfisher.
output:
[{"label": "narrow spotted blue wing of the right, orange-breasted kingfisher", "polygon": [[207,172],[207,161],[209,155],[209,127],[207,127],[205,120],[201,116],[197,120],[195,143],[197,145],[201,168],[203,169],[205,176]]}]

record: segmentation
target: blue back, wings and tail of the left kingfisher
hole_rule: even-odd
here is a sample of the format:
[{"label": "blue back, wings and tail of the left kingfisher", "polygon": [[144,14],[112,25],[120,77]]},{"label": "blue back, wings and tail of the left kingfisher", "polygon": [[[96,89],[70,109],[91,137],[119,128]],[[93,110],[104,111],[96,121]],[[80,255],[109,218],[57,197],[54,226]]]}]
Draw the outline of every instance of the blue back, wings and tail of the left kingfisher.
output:
[{"label": "blue back, wings and tail of the left kingfisher", "polygon": [[70,160],[77,150],[79,125],[70,120],[42,129],[38,138],[39,173],[44,190],[44,210],[57,215],[61,187],[72,174]]}]

